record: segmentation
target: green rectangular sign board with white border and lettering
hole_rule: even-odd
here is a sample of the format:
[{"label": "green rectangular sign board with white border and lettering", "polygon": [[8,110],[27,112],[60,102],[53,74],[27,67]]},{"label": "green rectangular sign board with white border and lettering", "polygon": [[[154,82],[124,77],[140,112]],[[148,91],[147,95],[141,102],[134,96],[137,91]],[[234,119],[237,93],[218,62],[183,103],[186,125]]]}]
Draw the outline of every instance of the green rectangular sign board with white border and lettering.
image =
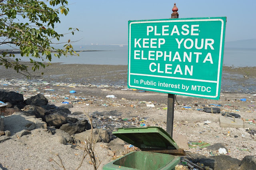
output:
[{"label": "green rectangular sign board with white border and lettering", "polygon": [[128,22],[128,87],[218,100],[226,17]]}]

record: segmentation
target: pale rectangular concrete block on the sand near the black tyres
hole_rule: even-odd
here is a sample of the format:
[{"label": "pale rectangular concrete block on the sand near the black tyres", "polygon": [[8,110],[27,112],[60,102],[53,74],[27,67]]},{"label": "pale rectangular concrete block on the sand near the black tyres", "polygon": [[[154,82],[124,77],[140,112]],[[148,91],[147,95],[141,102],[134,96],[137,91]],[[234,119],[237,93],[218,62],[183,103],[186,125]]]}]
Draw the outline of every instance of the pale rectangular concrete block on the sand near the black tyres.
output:
[{"label": "pale rectangular concrete block on the sand near the black tyres", "polygon": [[220,127],[244,128],[244,121],[238,118],[219,116]]}]

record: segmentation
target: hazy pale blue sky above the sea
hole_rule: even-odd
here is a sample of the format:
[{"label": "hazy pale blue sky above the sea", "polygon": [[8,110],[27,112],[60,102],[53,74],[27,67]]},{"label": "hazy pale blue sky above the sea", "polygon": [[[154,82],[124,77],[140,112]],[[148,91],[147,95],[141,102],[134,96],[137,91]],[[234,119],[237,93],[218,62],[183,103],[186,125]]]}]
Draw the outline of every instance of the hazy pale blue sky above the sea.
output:
[{"label": "hazy pale blue sky above the sea", "polygon": [[128,44],[128,20],[170,18],[176,2],[179,18],[226,16],[226,42],[256,39],[256,0],[69,0],[57,30],[78,28],[68,40],[76,45]]}]

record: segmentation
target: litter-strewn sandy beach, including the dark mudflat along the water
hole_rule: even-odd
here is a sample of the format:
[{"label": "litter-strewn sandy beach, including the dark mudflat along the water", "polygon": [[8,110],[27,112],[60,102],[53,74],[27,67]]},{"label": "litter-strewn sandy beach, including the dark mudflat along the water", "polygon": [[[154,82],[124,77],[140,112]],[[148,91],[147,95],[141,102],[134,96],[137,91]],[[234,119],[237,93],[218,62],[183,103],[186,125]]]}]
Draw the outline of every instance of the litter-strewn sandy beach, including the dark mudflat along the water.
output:
[{"label": "litter-strewn sandy beach, including the dark mudflat along the water", "polygon": [[[127,66],[125,65],[53,63],[41,70],[44,71],[44,75],[41,75],[40,71],[34,72],[30,80],[10,69],[0,67],[0,71],[0,89],[21,93],[24,99],[42,93],[50,104],[56,106],[62,105],[63,101],[69,101],[74,105],[70,109],[71,112],[83,111],[96,117],[108,118],[110,116],[122,119],[139,117],[144,120],[145,126],[166,129],[167,94],[127,89]],[[233,83],[231,85],[226,83],[222,88],[220,100],[177,96],[180,105],[175,104],[174,132],[184,135],[188,142],[204,141],[209,144],[223,142],[228,148],[228,154],[239,160],[246,155],[256,156],[256,138],[246,131],[248,128],[256,130],[255,123],[248,123],[248,120],[256,120],[254,95],[256,94],[254,84],[256,67],[224,67],[222,81],[224,80],[235,82],[237,85],[234,87]],[[70,90],[75,90],[76,93],[70,94]],[[107,95],[114,95],[116,98],[108,98]],[[240,101],[244,98],[246,101]],[[147,107],[147,104],[154,104],[155,107]],[[239,114],[244,121],[244,128],[221,128],[218,121],[221,114],[200,111],[203,107],[214,105],[220,108],[222,113]],[[210,121],[210,123],[205,125],[204,121]],[[110,130],[130,125],[140,127],[140,124],[131,124],[131,122],[100,122],[100,124],[97,124],[96,120],[94,122],[94,127]],[[42,136],[44,136],[43,139]],[[31,135],[22,136],[20,139],[13,137],[11,140],[0,143],[0,168],[4,170],[52,169],[52,162],[49,161],[50,149],[60,154],[67,169],[74,169],[76,167],[74,165],[79,162],[81,152],[68,145],[58,144],[55,138],[54,135],[47,134],[43,130],[35,129],[32,130]],[[106,148],[100,144],[97,145],[96,151],[99,158],[103,160],[99,169],[113,160]],[[190,148],[189,151],[212,156],[206,148]],[[92,169],[89,160],[86,160],[83,166],[86,168],[82,169]]]}]

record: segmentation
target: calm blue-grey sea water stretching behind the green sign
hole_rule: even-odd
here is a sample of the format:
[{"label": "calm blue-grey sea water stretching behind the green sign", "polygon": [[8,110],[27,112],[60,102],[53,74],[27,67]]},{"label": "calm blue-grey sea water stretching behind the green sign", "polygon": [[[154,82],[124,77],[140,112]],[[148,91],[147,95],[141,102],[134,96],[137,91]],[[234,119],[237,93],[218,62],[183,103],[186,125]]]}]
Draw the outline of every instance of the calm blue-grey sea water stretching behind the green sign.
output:
[{"label": "calm blue-grey sea water stretching behind the green sign", "polygon": [[[127,65],[128,45],[74,45],[74,50],[81,51],[79,56],[52,55],[52,63],[63,64],[100,64]],[[29,57],[21,57],[22,61],[30,61]],[[256,48],[225,48],[223,65],[234,67],[256,66]]]}]

